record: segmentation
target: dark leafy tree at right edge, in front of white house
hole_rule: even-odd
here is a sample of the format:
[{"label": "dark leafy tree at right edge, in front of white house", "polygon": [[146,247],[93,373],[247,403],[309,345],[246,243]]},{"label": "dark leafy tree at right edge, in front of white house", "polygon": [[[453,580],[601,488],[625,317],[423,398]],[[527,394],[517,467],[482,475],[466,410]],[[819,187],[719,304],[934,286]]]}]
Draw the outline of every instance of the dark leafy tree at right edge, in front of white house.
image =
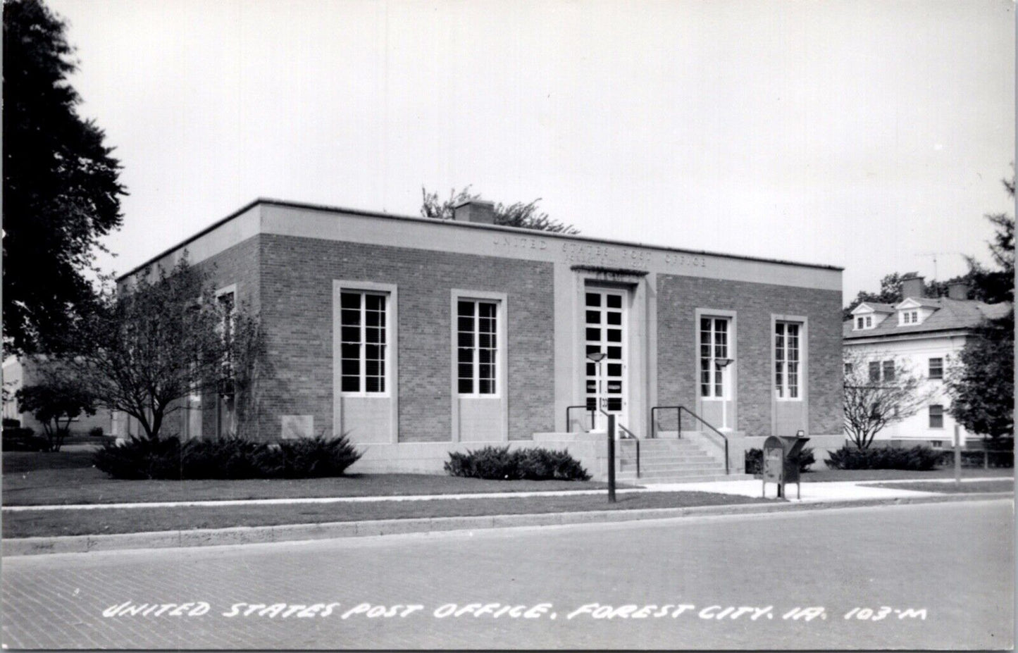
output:
[{"label": "dark leafy tree at right edge, in front of white house", "polygon": [[948,368],[949,412],[970,432],[1014,435],[1014,330],[1013,308],[1001,319],[984,321]]}]

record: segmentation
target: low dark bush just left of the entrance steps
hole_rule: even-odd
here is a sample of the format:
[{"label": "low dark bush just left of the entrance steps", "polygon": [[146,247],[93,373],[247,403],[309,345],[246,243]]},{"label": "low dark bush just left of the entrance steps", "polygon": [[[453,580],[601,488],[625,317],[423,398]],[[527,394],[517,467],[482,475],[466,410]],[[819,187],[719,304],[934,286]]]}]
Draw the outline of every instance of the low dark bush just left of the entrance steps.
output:
[{"label": "low dark bush just left of the entrance steps", "polygon": [[465,454],[450,452],[445,464],[450,476],[494,480],[585,481],[590,475],[566,451],[542,448],[485,447]]}]

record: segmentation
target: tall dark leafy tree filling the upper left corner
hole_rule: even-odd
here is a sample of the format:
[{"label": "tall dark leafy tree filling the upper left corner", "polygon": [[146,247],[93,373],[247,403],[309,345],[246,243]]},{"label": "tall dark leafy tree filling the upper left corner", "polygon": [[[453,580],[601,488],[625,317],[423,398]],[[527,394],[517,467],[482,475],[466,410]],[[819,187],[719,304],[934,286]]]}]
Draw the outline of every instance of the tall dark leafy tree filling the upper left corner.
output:
[{"label": "tall dark leafy tree filling the upper left corner", "polygon": [[4,3],[4,344],[19,352],[52,350],[92,301],[83,273],[126,194],[103,130],[77,115],[65,26],[40,0]]}]

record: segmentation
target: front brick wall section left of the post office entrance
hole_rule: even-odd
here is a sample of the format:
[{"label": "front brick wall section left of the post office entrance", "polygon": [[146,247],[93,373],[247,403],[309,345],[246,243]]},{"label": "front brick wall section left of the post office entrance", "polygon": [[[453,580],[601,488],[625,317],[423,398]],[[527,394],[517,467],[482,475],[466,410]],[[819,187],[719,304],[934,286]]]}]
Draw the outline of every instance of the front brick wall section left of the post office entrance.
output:
[{"label": "front brick wall section left of the post office entrance", "polygon": [[274,361],[262,429],[280,415],[313,415],[332,432],[333,280],[398,288],[400,441],[451,437],[450,311],[453,288],[508,295],[509,436],[554,424],[551,263],[263,234],[261,307]]}]

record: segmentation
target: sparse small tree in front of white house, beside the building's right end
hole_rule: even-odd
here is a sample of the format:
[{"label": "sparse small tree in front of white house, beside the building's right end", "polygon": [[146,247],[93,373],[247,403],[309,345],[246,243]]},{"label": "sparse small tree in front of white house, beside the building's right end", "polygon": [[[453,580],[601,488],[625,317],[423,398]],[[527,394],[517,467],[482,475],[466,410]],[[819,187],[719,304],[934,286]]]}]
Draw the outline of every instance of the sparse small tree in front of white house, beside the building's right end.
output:
[{"label": "sparse small tree in front of white house, beside the building's right end", "polygon": [[844,360],[845,431],[859,449],[868,448],[889,424],[917,413],[936,393],[894,356],[845,349]]}]

